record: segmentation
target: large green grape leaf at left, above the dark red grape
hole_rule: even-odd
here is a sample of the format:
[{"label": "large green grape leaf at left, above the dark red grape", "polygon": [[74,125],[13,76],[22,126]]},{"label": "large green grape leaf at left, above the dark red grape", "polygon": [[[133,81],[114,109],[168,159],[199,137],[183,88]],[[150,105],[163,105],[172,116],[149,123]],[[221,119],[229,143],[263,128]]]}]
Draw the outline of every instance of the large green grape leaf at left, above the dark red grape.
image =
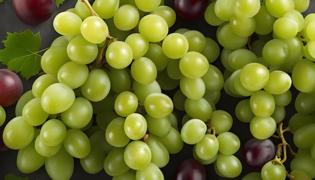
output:
[{"label": "large green grape leaf at left, above the dark red grape", "polygon": [[41,70],[41,55],[38,54],[41,44],[39,32],[36,35],[30,30],[7,33],[7,39],[2,41],[5,49],[0,50],[0,62],[6,64],[9,70],[21,72],[26,79],[38,74]]}]

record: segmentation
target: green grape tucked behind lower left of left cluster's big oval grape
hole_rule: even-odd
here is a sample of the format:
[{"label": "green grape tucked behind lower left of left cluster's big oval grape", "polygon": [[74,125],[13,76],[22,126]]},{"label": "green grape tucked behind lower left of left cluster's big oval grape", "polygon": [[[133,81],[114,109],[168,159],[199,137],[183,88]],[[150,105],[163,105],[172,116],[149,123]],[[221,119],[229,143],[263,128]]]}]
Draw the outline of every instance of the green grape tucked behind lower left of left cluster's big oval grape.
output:
[{"label": "green grape tucked behind lower left of left cluster's big oval grape", "polygon": [[49,114],[46,113],[41,106],[41,99],[34,98],[25,104],[22,110],[22,117],[31,126],[39,126],[43,124],[48,118]]}]

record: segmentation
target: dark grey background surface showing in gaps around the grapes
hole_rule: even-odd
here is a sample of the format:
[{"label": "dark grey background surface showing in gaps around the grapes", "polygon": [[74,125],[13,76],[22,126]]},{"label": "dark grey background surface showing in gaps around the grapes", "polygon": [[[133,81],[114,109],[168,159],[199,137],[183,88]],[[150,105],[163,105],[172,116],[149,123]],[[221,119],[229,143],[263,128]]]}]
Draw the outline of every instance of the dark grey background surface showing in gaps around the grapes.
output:
[{"label": "dark grey background surface showing in gaps around the grapes", "polygon": [[[173,1],[171,0],[165,0],[165,4],[171,7],[173,6],[172,2]],[[0,4],[0,13],[1,13],[0,41],[6,40],[7,32],[14,33],[14,32],[25,31],[26,29],[30,29],[34,34],[37,32],[40,32],[40,37],[41,37],[41,42],[42,42],[40,49],[49,47],[50,43],[56,37],[59,36],[52,27],[53,18],[55,17],[57,13],[67,10],[69,8],[73,8],[75,3],[76,3],[76,0],[65,0],[63,5],[60,5],[59,8],[56,8],[54,15],[48,21],[40,25],[29,26],[19,21],[19,19],[14,13],[12,3],[10,3],[9,0],[5,0],[2,4]],[[303,15],[305,16],[313,12],[315,12],[315,2],[310,0],[309,9],[306,12],[304,12]],[[176,29],[179,29],[179,28],[188,28],[191,30],[198,30],[202,32],[206,37],[216,40],[215,34],[216,34],[217,27],[212,27],[208,25],[204,21],[203,17],[197,21],[192,21],[192,22],[183,21],[182,19],[177,18],[177,22],[173,27],[171,27],[170,32],[174,32]],[[3,49],[3,48],[4,48],[3,43],[0,43],[0,49]],[[223,73],[224,69],[222,68],[223,66],[219,59],[213,62],[212,64],[219,67]],[[0,63],[0,68],[6,68],[6,66]],[[24,92],[31,89],[31,86],[32,86],[33,81],[35,80],[35,77],[31,77],[29,80],[26,80],[24,78],[21,78],[21,79],[24,84]],[[283,121],[284,127],[287,126],[287,122],[290,119],[290,117],[296,113],[294,109],[294,99],[296,97],[297,91],[294,89],[293,86],[291,88],[291,91],[293,93],[293,97],[292,97],[291,104],[286,107],[286,118]],[[242,161],[241,151],[242,151],[243,145],[247,140],[252,138],[252,135],[249,131],[249,124],[242,123],[235,117],[234,109],[239,101],[240,99],[238,98],[233,98],[226,95],[226,93],[222,89],[221,98],[220,98],[219,103],[217,103],[216,105],[216,109],[225,110],[233,116],[234,121],[233,121],[233,126],[230,131],[238,135],[239,138],[241,139],[241,148],[237,153],[235,153],[235,155],[239,157],[239,159]],[[7,120],[6,120],[6,123],[7,123],[8,121],[10,121],[12,118],[15,117],[15,113],[14,113],[15,106],[13,105],[11,107],[7,107],[5,108],[5,110],[7,113]],[[179,120],[179,123],[180,121],[181,120]],[[0,129],[3,129],[4,127],[5,125],[0,127]],[[294,147],[294,144],[291,140],[292,134],[289,132],[286,132],[284,136],[286,140],[288,141],[288,143],[292,145],[293,150],[296,151],[297,149],[296,147]],[[280,143],[279,139],[275,139],[275,138],[271,138],[271,139],[274,141],[275,144]],[[44,166],[41,167],[38,171],[30,173],[30,174],[24,174],[20,172],[16,166],[17,152],[18,152],[17,150],[8,150],[5,152],[0,152],[0,179],[3,179],[3,177],[8,173],[13,173],[15,175],[22,176],[22,177],[27,176],[31,179],[50,179],[50,177],[47,175],[45,171]],[[184,159],[191,158],[191,157],[192,157],[192,146],[187,145],[187,144],[184,145],[184,148],[182,149],[181,152],[179,152],[178,154],[172,154],[169,164],[166,167],[162,168],[162,171],[165,175],[165,179],[167,180],[174,179],[174,172],[177,166]],[[290,167],[289,162],[290,162],[290,159],[288,159],[285,162],[285,166],[287,167],[287,170],[289,170],[289,167]],[[207,170],[207,179],[215,179],[215,180],[242,179],[244,175],[253,171],[243,164],[243,171],[239,177],[222,178],[214,172],[213,164],[206,165],[205,167]],[[75,159],[74,172],[71,179],[111,179],[111,177],[108,176],[104,170],[102,170],[101,172],[97,174],[88,174],[83,170],[78,159]]]}]

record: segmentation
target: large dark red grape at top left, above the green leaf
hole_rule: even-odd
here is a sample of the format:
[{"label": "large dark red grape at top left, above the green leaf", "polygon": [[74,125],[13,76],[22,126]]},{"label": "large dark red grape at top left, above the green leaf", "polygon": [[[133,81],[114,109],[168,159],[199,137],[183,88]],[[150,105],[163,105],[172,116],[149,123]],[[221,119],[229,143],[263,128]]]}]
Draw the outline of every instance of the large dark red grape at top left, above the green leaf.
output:
[{"label": "large dark red grape at top left, above the green leaf", "polygon": [[55,0],[12,0],[13,9],[25,24],[37,25],[48,20],[55,11]]}]

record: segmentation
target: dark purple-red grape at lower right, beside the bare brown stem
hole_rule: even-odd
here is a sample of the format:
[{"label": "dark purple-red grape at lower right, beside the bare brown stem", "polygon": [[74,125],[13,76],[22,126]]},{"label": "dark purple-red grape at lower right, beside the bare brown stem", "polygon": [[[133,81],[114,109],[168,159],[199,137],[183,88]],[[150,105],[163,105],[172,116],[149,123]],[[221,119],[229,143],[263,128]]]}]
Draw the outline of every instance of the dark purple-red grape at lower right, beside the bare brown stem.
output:
[{"label": "dark purple-red grape at lower right, beside the bare brown stem", "polygon": [[270,139],[252,138],[244,144],[242,155],[248,167],[261,169],[264,164],[275,157],[276,147]]}]

